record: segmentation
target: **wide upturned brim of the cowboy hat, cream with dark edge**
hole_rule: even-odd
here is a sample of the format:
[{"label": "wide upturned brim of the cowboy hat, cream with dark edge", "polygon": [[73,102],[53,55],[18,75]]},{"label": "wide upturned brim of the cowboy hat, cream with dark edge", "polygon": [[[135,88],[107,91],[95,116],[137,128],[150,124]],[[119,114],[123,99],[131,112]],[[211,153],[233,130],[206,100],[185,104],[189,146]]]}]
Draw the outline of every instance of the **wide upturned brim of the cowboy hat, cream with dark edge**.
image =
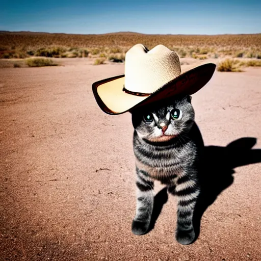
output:
[{"label": "wide upturned brim of the cowboy hat, cream with dark edge", "polygon": [[210,81],[216,65],[208,63],[180,74],[149,96],[123,91],[124,74],[93,83],[92,91],[100,109],[108,114],[122,114],[139,106],[178,94],[194,94]]}]

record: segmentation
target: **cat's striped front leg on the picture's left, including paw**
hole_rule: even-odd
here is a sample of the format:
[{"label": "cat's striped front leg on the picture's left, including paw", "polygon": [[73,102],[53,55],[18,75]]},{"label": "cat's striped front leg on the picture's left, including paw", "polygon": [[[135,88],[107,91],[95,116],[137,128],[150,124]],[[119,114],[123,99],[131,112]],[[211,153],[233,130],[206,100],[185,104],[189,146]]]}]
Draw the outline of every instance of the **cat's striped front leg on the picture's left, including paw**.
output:
[{"label": "cat's striped front leg on the picture's left, including paw", "polygon": [[134,234],[142,235],[149,230],[154,200],[154,182],[146,171],[136,168],[137,206],[132,223]]}]

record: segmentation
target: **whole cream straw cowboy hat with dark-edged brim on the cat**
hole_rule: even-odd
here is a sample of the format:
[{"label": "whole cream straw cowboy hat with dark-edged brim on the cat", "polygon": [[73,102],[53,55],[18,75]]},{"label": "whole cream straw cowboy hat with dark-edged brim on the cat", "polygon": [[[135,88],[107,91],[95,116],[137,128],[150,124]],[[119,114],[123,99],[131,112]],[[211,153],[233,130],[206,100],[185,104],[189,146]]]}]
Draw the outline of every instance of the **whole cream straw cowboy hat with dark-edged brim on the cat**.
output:
[{"label": "whole cream straw cowboy hat with dark-edged brim on the cat", "polygon": [[121,114],[173,95],[191,95],[211,79],[215,68],[208,63],[181,73],[175,51],[136,44],[126,53],[125,74],[95,82],[92,90],[103,112]]}]

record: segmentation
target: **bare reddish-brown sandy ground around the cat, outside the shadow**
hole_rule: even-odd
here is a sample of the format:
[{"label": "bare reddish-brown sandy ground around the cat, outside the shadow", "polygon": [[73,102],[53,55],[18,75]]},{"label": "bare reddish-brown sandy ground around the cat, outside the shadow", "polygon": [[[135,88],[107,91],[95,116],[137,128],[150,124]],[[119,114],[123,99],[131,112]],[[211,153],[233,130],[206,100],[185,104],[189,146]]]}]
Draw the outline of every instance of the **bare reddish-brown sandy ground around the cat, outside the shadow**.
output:
[{"label": "bare reddish-brown sandy ground around the cat, outside the shadow", "polygon": [[260,260],[261,69],[216,71],[192,97],[208,172],[198,239],[182,246],[159,183],[151,231],[131,231],[131,114],[103,113],[91,89],[124,64],[64,59],[0,69],[0,259]]}]

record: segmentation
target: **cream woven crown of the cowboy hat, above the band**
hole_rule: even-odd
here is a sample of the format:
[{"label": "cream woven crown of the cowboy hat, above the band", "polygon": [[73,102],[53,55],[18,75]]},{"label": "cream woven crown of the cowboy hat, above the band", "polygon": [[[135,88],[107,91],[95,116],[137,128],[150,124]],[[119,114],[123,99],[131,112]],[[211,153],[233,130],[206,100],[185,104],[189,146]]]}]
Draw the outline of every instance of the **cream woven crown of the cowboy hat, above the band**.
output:
[{"label": "cream woven crown of the cowboy hat, above the band", "polygon": [[126,53],[124,87],[128,91],[153,93],[180,74],[178,55],[164,45],[148,50],[136,44]]}]

